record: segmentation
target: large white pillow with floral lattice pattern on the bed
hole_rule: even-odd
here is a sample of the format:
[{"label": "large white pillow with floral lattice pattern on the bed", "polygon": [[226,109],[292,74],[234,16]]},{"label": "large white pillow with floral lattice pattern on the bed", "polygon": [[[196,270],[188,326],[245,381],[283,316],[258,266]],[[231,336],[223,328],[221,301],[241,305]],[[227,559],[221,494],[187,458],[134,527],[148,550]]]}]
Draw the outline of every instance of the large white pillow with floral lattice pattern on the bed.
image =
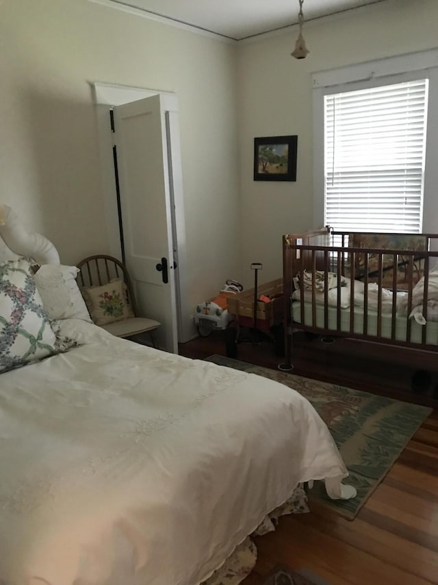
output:
[{"label": "large white pillow with floral lattice pattern on the bed", "polygon": [[33,276],[31,261],[0,264],[0,372],[63,350]]}]

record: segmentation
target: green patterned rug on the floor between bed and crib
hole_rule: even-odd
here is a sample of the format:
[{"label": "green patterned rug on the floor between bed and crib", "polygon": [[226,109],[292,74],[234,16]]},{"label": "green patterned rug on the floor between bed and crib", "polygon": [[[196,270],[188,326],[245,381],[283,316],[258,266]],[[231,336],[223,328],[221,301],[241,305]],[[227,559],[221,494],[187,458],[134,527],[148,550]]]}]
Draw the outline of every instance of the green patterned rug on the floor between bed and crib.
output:
[{"label": "green patterned rug on the floor between bed and crib", "polygon": [[221,355],[212,355],[207,361],[281,382],[307,398],[329,427],[344,459],[350,473],[345,483],[357,489],[357,497],[333,501],[326,496],[323,483],[316,481],[309,497],[317,498],[350,520],[355,518],[415,431],[432,412],[431,408],[424,406],[254,366]]}]

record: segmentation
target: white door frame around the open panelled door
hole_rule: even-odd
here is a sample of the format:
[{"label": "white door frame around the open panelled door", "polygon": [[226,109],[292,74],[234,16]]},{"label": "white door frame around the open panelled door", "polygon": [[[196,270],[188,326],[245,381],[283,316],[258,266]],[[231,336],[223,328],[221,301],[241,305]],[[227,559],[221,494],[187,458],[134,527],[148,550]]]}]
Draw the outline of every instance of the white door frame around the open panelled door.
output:
[{"label": "white door frame around the open panelled door", "polygon": [[[188,270],[187,248],[185,244],[185,213],[183,176],[181,165],[181,147],[179,136],[179,105],[175,93],[139,87],[93,82],[92,94],[96,106],[99,155],[101,163],[101,181],[103,189],[105,228],[110,254],[121,259],[120,230],[118,224],[116,182],[114,180],[113,135],[110,125],[110,110],[129,102],[136,102],[144,97],[159,94],[168,121],[169,167],[172,169],[171,201],[173,246],[178,259],[175,270],[175,301],[177,305],[178,342],[192,339],[192,326],[188,315]],[[171,259],[169,259],[170,261]]]}]

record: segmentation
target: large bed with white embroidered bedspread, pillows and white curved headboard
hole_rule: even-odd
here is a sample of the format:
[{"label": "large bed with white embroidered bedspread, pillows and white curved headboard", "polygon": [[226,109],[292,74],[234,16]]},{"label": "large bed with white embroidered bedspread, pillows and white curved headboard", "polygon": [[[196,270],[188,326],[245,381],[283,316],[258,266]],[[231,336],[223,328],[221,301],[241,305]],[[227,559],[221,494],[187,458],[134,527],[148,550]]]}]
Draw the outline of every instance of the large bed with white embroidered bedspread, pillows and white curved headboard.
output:
[{"label": "large bed with white embroidered bedspread, pillows and white curved headboard", "polygon": [[300,394],[94,325],[77,269],[7,206],[0,255],[1,585],[238,583],[255,556],[230,560],[305,482],[355,496]]}]

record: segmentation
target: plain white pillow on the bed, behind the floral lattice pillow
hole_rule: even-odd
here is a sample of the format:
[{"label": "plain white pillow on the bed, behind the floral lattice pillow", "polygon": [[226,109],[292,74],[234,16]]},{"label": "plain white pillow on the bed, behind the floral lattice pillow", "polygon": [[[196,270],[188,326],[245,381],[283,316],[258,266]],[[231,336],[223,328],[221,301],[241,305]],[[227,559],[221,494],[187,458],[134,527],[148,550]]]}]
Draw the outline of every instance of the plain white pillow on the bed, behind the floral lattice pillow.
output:
[{"label": "plain white pillow on the bed, behind the floral lattice pillow", "polygon": [[43,264],[34,278],[49,319],[82,319],[92,322],[77,286],[76,266]]}]

